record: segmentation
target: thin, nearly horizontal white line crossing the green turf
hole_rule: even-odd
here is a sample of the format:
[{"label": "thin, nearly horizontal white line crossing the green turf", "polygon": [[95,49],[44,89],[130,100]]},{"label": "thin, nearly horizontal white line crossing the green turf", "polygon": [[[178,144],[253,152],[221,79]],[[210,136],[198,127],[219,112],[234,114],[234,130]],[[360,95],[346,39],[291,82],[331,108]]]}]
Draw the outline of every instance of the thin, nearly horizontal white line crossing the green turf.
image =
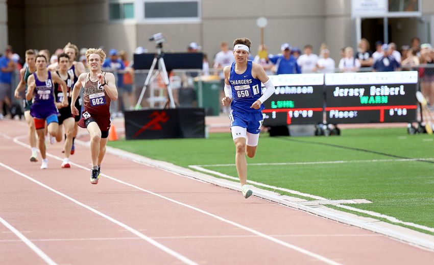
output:
[{"label": "thin, nearly horizontal white line crossing the green turf", "polygon": [[[432,139],[431,139],[432,140]],[[370,159],[370,160],[336,160],[336,161],[311,161],[311,162],[281,162],[281,163],[249,163],[250,165],[315,165],[315,164],[345,164],[345,163],[377,163],[377,162],[407,162],[407,161],[432,161],[434,158],[400,158],[400,159]],[[235,166],[235,164],[209,164],[191,166]]]}]

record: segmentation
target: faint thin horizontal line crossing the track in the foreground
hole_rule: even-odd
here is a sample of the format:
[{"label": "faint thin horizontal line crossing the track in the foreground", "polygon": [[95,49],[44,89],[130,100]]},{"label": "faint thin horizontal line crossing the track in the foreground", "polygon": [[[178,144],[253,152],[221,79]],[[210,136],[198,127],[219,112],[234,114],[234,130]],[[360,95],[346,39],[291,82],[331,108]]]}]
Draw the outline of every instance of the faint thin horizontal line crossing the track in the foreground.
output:
[{"label": "faint thin horizontal line crossing the track in the foreground", "polygon": [[[380,234],[299,234],[299,235],[270,235],[274,237],[376,237]],[[152,236],[152,239],[213,239],[213,238],[259,238],[258,235],[203,235],[203,236]],[[106,240],[141,240],[139,237],[89,237],[89,238],[42,238],[32,239],[32,242],[61,242],[61,241],[106,241]],[[0,243],[20,242],[18,239],[4,239]]]}]

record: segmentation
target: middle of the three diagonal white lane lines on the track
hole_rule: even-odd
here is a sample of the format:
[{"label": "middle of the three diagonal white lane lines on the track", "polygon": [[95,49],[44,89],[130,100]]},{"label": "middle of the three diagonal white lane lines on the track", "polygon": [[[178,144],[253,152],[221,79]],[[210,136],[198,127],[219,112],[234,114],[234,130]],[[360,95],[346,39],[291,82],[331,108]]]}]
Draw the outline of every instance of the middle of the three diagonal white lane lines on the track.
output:
[{"label": "middle of the three diagonal white lane lines on the track", "polygon": [[[47,155],[48,155],[48,154],[47,154]],[[62,197],[65,198],[65,199],[68,199],[69,201],[74,202],[75,204],[78,204],[78,205],[82,206],[83,208],[86,208],[86,209],[88,209],[89,211],[92,211],[92,212],[94,212],[94,213],[96,213],[96,214],[102,216],[104,219],[107,219],[108,221],[110,221],[110,222],[112,222],[112,223],[114,223],[114,224],[116,224],[116,225],[118,225],[118,226],[120,226],[120,227],[125,228],[126,230],[130,231],[131,233],[133,233],[133,234],[137,235],[138,237],[140,237],[140,238],[146,240],[148,243],[150,243],[150,244],[152,244],[153,246],[159,248],[160,250],[166,252],[167,254],[170,254],[170,255],[174,256],[175,258],[177,258],[177,259],[183,261],[184,263],[186,263],[186,264],[195,264],[195,265],[197,264],[196,262],[194,262],[194,261],[192,261],[192,260],[190,260],[190,259],[184,257],[183,255],[181,255],[181,254],[179,254],[179,253],[177,253],[177,252],[171,250],[170,248],[167,248],[166,246],[164,246],[164,245],[162,245],[162,244],[156,242],[154,239],[150,238],[149,236],[146,236],[146,235],[140,233],[139,231],[135,230],[134,228],[132,228],[132,227],[130,227],[130,226],[128,226],[128,225],[126,225],[126,224],[120,222],[120,221],[117,221],[116,219],[110,217],[109,215],[104,214],[104,213],[102,213],[102,212],[100,212],[100,211],[98,211],[98,210],[95,210],[95,209],[93,209],[92,207],[90,207],[90,206],[88,206],[88,205],[86,205],[86,204],[84,204],[84,203],[81,203],[81,202],[79,202],[79,201],[77,201],[77,200],[75,200],[75,199],[73,199],[73,198],[71,198],[71,197],[69,197],[69,196],[63,194],[62,192],[57,191],[56,189],[54,189],[54,188],[52,188],[52,187],[50,187],[50,186],[47,186],[47,185],[45,185],[44,183],[42,183],[42,182],[40,182],[40,181],[37,181],[37,180],[35,180],[35,179],[33,179],[33,178],[27,176],[26,174],[21,173],[21,172],[15,170],[14,168],[12,168],[12,167],[10,167],[10,166],[8,166],[8,165],[2,163],[2,162],[0,162],[0,165],[3,166],[4,168],[6,168],[6,169],[9,170],[9,171],[12,171],[13,173],[15,173],[15,174],[17,174],[17,175],[20,175],[21,177],[25,177],[26,179],[28,179],[28,180],[30,180],[30,181],[32,181],[32,182],[38,184],[39,186],[42,186],[42,187],[44,187],[44,188],[46,188],[46,189],[48,189],[48,190],[50,190],[50,191],[53,191],[55,194],[60,195],[60,196],[62,196]]]}]

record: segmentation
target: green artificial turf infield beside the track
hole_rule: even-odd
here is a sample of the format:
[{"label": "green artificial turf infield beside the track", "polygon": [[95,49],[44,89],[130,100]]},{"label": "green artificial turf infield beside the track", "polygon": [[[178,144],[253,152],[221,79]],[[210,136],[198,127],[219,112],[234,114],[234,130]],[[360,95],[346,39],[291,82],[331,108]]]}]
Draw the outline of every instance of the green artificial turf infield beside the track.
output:
[{"label": "green artificial turf infield beside the track", "polygon": [[[332,200],[366,199],[373,203],[350,206],[434,228],[433,140],[426,134],[408,135],[405,128],[347,129],[330,137],[264,134],[255,158],[247,159],[248,179]],[[208,139],[119,140],[109,146],[184,167],[205,165],[237,177],[229,133],[210,134]],[[327,161],[344,162],[294,164]]]}]

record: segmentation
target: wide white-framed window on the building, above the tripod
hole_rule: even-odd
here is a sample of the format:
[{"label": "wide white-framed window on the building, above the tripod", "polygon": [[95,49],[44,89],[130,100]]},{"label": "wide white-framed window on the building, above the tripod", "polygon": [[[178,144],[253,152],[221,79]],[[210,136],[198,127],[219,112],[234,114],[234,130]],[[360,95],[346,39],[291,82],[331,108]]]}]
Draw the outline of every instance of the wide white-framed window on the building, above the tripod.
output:
[{"label": "wide white-framed window on the building, above the tripod", "polygon": [[200,0],[144,2],[144,19],[198,19]]}]

